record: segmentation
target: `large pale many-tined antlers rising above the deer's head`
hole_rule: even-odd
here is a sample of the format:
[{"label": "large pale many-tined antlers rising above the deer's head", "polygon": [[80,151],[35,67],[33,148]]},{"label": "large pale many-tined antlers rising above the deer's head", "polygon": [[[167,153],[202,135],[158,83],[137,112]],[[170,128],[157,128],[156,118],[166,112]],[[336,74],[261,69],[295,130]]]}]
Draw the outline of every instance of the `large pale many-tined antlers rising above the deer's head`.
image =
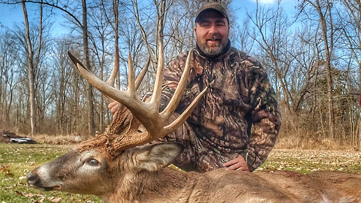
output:
[{"label": "large pale many-tined antlers rising above the deer's head", "polygon": [[[161,86],[162,86],[162,75],[164,69],[163,62],[163,46],[162,43],[159,42],[159,57],[158,57],[158,66],[157,73],[154,82],[153,94],[148,102],[141,101],[136,95],[136,89],[139,86],[142,77],[142,74],[139,74],[140,77],[135,80],[133,62],[128,54],[128,68],[129,68],[129,76],[128,76],[128,87],[125,91],[120,91],[113,88],[110,84],[100,80],[96,76],[94,76],[88,69],[84,67],[84,65],[77,60],[74,56],[72,56],[69,52],[69,56],[72,59],[73,63],[77,66],[79,72],[84,76],[84,78],[92,84],[95,88],[97,88],[100,92],[102,92],[107,97],[118,101],[127,107],[130,112],[135,116],[135,118],[145,127],[146,131],[139,130],[141,126],[135,124],[131,126],[126,133],[121,134],[112,140],[109,145],[115,151],[118,149],[126,149],[133,146],[142,145],[158,138],[164,137],[165,135],[173,132],[176,128],[182,125],[186,119],[190,116],[193,109],[207,91],[207,87],[196,97],[196,99],[188,106],[188,108],[173,122],[168,123],[168,119],[175,111],[178,106],[180,99],[183,96],[184,89],[186,87],[186,83],[189,77],[189,72],[191,68],[191,52],[189,52],[187,57],[186,67],[182,74],[182,77],[179,80],[178,86],[175,89],[174,95],[169,101],[168,105],[165,109],[159,113],[160,106],[160,98],[161,98]],[[148,62],[149,63],[149,59]],[[144,70],[142,70],[143,72]],[[112,77],[113,73],[112,71]],[[115,72],[116,74],[116,72]],[[114,75],[115,75],[114,74]],[[145,71],[144,71],[145,74]],[[109,79],[111,81],[111,79]],[[108,82],[109,82],[108,81]],[[114,81],[114,80],[113,80]],[[111,82],[109,82],[111,83]]]}]

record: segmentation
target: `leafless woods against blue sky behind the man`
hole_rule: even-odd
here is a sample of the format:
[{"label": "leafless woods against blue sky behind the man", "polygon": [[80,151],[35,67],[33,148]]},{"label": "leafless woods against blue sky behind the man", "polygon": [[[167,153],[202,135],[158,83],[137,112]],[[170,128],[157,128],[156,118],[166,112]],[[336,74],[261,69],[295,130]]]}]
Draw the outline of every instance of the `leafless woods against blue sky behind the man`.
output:
[{"label": "leafless woods against blue sky behind the man", "polygon": [[[107,80],[120,67],[118,88],[127,84],[127,53],[136,72],[151,63],[141,94],[151,89],[156,69],[157,15],[165,9],[165,61],[195,46],[195,14],[205,1],[109,0],[5,1],[22,6],[23,24],[0,31],[0,129],[24,134],[91,134],[112,119],[108,101],[74,71],[67,51]],[[282,111],[280,136],[331,139],[361,146],[358,108],[361,71],[361,2],[302,0],[287,16],[281,1],[258,2],[231,16],[232,46],[260,60],[269,74]],[[39,7],[38,22],[27,5]],[[162,6],[163,4],[163,6]],[[71,32],[53,37],[53,11]],[[236,21],[237,12],[247,18]],[[29,23],[28,23],[29,22]],[[119,62],[114,62],[119,54]]]}]

